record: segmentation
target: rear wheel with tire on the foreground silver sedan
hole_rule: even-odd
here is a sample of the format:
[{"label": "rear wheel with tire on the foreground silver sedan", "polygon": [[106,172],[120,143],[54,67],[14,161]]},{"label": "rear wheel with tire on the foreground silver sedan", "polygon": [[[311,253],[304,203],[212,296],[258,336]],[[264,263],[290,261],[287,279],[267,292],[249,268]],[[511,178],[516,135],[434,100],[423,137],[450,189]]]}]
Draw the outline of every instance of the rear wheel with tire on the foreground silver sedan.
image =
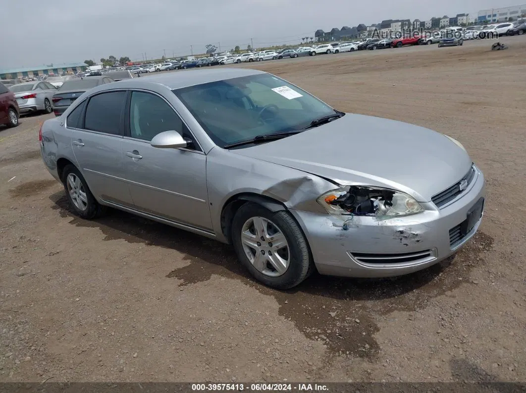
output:
[{"label": "rear wheel with tire on the foreground silver sedan", "polygon": [[75,215],[90,220],[105,213],[106,207],[97,202],[84,176],[75,165],[66,165],[62,174],[62,183],[69,206]]}]

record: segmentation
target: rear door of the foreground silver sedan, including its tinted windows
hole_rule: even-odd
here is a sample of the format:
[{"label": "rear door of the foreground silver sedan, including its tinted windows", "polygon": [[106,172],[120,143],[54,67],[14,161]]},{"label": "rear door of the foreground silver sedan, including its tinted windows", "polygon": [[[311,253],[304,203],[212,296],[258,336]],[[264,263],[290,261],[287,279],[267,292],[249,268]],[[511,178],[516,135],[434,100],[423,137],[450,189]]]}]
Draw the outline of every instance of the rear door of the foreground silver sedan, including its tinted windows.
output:
[{"label": "rear door of the foreground silver sedan, including its tinted windows", "polygon": [[122,160],[126,95],[125,90],[93,95],[80,105],[80,113],[75,113],[77,107],[69,114],[66,124],[80,171],[95,197],[129,207]]}]

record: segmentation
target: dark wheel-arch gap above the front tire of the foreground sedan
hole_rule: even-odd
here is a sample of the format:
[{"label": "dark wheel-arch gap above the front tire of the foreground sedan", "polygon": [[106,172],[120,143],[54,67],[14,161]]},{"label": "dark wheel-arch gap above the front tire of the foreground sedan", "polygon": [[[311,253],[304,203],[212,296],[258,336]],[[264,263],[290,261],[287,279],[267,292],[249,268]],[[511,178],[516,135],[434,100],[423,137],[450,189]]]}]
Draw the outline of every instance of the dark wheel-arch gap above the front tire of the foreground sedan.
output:
[{"label": "dark wheel-arch gap above the front tire of the foreground sedan", "polygon": [[221,232],[228,243],[232,242],[230,231],[236,211],[248,202],[263,206],[272,212],[287,210],[287,207],[280,201],[265,195],[244,192],[231,196],[221,209]]}]

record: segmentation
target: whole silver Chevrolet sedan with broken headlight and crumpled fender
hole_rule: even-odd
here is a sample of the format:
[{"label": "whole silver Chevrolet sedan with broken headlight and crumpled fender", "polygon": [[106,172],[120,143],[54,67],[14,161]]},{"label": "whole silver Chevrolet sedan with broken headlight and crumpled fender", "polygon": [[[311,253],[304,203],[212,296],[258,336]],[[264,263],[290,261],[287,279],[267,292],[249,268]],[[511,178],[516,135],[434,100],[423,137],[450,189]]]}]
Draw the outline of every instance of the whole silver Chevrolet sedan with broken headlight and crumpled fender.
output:
[{"label": "whole silver Chevrolet sedan with broken headlight and crumpled fender", "polygon": [[[356,145],[363,132],[387,146],[381,154]],[[98,86],[47,120],[39,139],[76,215],[111,206],[232,243],[274,288],[315,270],[418,271],[456,252],[482,219],[484,176],[460,142],[340,112],[258,70]]]}]

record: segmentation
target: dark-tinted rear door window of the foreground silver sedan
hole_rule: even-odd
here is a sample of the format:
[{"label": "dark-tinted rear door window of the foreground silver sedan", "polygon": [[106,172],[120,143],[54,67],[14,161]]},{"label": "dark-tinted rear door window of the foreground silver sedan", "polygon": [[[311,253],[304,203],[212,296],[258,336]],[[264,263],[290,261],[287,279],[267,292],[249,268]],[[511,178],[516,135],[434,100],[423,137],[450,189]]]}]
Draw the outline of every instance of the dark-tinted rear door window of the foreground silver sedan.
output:
[{"label": "dark-tinted rear door window of the foreground silver sedan", "polygon": [[125,91],[97,94],[88,102],[84,128],[86,130],[119,135],[120,119],[126,100]]}]

